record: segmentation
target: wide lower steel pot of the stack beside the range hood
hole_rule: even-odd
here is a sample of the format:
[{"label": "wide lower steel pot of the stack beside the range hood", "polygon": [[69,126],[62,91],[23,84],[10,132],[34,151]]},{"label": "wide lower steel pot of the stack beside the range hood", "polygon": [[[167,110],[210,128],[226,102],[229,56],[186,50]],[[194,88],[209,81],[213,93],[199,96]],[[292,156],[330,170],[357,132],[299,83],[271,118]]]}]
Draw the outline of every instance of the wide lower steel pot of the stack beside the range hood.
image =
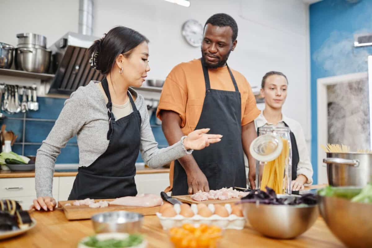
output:
[{"label": "wide lower steel pot of the stack beside the range hood", "polygon": [[46,73],[49,69],[51,51],[42,48],[16,48],[17,70]]}]

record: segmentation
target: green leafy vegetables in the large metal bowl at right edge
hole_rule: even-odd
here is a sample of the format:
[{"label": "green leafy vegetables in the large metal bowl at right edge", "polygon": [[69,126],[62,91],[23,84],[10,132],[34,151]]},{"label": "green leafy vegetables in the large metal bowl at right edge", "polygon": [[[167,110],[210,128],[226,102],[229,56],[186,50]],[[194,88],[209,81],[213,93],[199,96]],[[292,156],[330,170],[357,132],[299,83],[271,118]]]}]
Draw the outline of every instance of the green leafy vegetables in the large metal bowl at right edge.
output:
[{"label": "green leafy vegetables in the large metal bowl at right edge", "polygon": [[372,203],[372,182],[368,183],[363,189],[327,186],[319,190],[318,194],[320,196],[341,197],[352,202]]}]

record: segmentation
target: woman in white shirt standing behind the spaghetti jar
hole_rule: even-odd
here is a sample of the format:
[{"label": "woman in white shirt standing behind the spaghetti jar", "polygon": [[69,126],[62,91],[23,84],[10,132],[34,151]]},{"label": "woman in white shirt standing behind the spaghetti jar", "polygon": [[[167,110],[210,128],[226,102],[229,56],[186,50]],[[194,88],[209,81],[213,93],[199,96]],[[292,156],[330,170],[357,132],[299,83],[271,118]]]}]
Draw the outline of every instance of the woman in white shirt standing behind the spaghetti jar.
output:
[{"label": "woman in white shirt standing behind the spaghetti jar", "polygon": [[254,123],[257,130],[267,125],[289,127],[292,145],[292,190],[302,190],[304,185],[312,184],[313,171],[300,123],[282,114],[287,88],[288,80],[283,73],[269,71],[263,76],[261,96],[265,99],[265,109]]}]

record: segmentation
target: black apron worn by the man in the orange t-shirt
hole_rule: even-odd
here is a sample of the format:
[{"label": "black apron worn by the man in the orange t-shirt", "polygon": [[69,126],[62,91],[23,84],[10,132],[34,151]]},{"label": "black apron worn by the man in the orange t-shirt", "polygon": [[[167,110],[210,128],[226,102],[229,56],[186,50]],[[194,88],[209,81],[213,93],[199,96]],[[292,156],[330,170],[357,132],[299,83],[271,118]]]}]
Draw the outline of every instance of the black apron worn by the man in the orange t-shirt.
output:
[{"label": "black apron worn by the man in the orange t-shirt", "polygon": [[[199,168],[208,179],[209,189],[247,186],[244,166],[243,145],[241,143],[241,97],[235,78],[227,67],[235,91],[211,89],[208,69],[202,68],[205,80],[205,99],[202,113],[195,129],[210,128],[209,133],[218,133],[224,137],[220,142],[200,150],[192,155]],[[172,194],[185,195],[189,186],[187,175],[178,160],[174,161]]]}]

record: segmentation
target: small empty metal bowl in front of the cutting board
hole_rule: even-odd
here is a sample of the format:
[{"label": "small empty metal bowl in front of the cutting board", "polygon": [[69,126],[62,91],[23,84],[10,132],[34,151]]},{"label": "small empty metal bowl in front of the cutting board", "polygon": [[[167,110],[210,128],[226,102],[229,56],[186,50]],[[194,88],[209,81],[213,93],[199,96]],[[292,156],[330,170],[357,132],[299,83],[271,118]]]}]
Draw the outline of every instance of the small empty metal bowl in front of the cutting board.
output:
[{"label": "small empty metal bowl in front of the cutting board", "polygon": [[141,231],[143,215],[127,211],[98,213],[92,216],[93,228],[96,233]]}]

